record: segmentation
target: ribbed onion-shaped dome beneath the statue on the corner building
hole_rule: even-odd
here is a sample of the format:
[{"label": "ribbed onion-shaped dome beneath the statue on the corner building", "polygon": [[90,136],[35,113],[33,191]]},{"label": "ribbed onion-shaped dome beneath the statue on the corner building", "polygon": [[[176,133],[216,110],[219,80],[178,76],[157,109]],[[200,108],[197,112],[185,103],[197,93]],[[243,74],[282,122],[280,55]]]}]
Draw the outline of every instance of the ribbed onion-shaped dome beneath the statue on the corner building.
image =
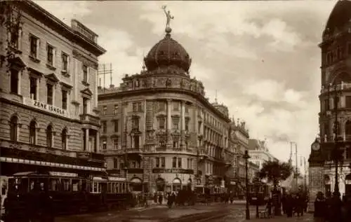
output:
[{"label": "ribbed onion-shaped dome beneath the statue on the corner building", "polygon": [[185,48],[171,38],[172,29],[166,28],[166,36],[161,39],[144,58],[148,71],[159,67],[178,67],[188,73],[192,60]]}]

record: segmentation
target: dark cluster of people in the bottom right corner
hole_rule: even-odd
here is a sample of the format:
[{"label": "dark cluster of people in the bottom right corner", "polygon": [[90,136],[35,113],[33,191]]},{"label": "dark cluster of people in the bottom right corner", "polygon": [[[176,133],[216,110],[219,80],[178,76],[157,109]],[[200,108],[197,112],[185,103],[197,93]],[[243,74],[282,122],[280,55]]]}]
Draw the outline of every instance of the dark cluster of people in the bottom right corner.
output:
[{"label": "dark cluster of people in the bottom right corner", "polygon": [[314,221],[316,222],[346,222],[351,218],[351,197],[331,195],[318,192],[314,200]]}]

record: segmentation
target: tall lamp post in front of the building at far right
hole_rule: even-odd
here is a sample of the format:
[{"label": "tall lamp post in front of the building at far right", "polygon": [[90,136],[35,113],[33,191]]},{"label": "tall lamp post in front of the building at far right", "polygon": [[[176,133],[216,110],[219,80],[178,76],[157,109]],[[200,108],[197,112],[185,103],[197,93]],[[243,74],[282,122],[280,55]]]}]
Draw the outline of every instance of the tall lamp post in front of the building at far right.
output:
[{"label": "tall lamp post in front of the building at far right", "polygon": [[[331,83],[328,85],[328,102],[329,102],[329,97],[330,97],[330,88],[331,88]],[[339,141],[338,141],[338,130],[339,130],[339,124],[338,124],[338,101],[340,93],[338,93],[338,85],[335,83],[334,84],[334,98],[333,98],[333,109],[334,109],[334,125],[333,125],[333,134],[334,134],[334,147],[333,147],[333,159],[335,162],[335,185],[334,185],[334,192],[333,195],[336,197],[340,197],[340,191],[339,191],[339,181],[338,181],[338,158],[339,158]],[[328,111],[329,115],[331,115],[331,112]]]}]

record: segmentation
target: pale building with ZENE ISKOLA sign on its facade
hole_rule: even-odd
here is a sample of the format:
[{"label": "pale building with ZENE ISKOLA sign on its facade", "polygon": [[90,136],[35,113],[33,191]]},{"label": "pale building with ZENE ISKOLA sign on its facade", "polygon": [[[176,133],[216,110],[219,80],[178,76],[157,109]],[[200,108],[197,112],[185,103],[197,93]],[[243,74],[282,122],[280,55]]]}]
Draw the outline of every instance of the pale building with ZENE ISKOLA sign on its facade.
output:
[{"label": "pale building with ZENE ISKOLA sign on its facade", "polygon": [[[105,171],[98,154],[98,35],[55,18],[32,1],[1,2],[1,175]],[[18,14],[21,16],[18,17]]]}]

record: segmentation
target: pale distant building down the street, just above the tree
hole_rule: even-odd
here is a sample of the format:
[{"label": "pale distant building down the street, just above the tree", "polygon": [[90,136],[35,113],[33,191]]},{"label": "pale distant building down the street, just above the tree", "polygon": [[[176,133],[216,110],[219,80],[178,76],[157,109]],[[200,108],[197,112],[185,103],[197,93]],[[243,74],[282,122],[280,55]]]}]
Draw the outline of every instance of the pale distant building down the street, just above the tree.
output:
[{"label": "pale distant building down the street, just above the tree", "polygon": [[249,139],[249,155],[250,161],[258,165],[259,169],[264,162],[277,160],[268,150],[265,141],[258,139]]}]

